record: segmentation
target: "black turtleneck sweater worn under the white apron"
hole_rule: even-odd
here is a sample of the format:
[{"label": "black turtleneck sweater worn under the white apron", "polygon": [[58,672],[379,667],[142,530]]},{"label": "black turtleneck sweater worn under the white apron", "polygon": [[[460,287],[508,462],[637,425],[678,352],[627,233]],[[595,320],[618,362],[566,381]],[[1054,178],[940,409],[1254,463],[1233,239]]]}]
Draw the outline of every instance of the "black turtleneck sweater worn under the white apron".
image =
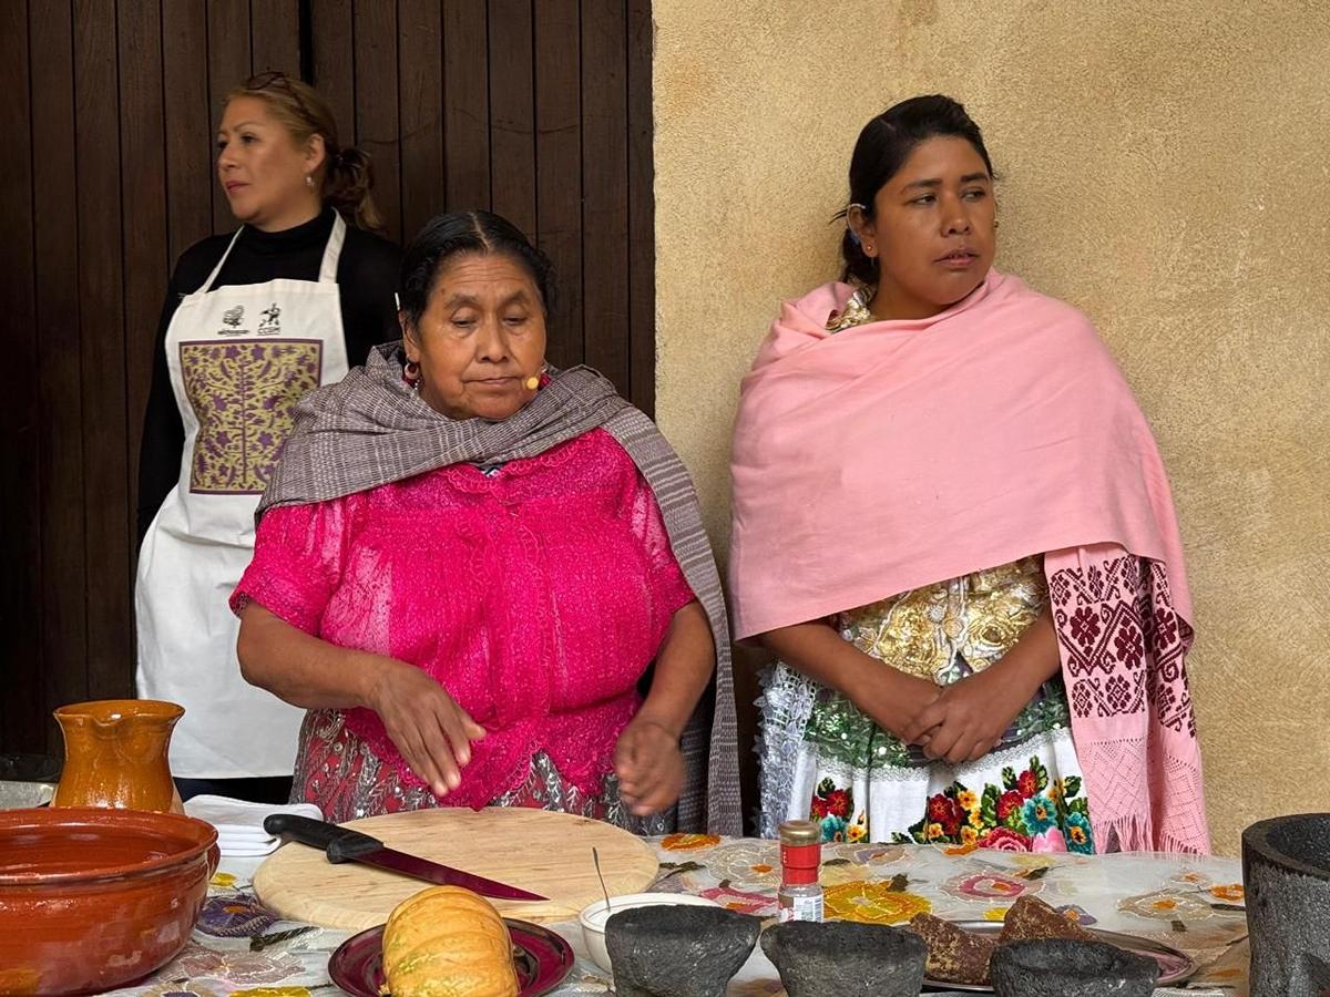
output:
[{"label": "black turtleneck sweater worn under the white apron", "polygon": [[[246,227],[213,287],[258,284],[278,278],[318,280],[323,249],[332,233],[334,211],[286,231],[266,233]],[[157,326],[153,355],[153,382],[144,416],[144,439],[138,451],[138,541],[142,542],[162,501],[180,480],[185,448],[185,424],[176,407],[176,395],[166,370],[166,328],[180,300],[203,286],[217,261],[226,253],[233,233],[213,235],[185,250],[176,263],[162,318]],[[370,348],[398,339],[394,292],[402,250],[372,233],[347,225],[346,242],[338,259],[336,282],[342,298],[342,334],[351,367],[364,363]]]}]

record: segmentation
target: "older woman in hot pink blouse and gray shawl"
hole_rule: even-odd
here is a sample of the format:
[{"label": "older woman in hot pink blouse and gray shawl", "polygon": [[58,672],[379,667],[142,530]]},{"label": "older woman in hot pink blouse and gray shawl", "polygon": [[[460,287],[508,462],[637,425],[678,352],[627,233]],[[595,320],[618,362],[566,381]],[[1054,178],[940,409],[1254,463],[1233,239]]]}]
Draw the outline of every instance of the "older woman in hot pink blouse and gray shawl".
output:
[{"label": "older woman in hot pink blouse and gray shawl", "polygon": [[402,286],[402,343],[302,403],[231,597],[246,678],[310,710],[294,795],[331,820],[737,831],[729,638],[682,465],[600,375],[547,371],[548,263],[504,219],[434,219]]}]

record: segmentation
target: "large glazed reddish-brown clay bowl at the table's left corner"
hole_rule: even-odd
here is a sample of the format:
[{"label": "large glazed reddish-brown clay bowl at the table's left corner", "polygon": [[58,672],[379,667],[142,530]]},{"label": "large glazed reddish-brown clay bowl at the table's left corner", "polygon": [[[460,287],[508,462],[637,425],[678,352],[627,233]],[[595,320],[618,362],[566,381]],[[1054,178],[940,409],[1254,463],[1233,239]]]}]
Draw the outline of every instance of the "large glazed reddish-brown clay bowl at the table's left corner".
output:
[{"label": "large glazed reddish-brown clay bowl at the table's left corner", "polygon": [[132,810],[0,812],[0,994],[109,990],[189,941],[211,824]]}]

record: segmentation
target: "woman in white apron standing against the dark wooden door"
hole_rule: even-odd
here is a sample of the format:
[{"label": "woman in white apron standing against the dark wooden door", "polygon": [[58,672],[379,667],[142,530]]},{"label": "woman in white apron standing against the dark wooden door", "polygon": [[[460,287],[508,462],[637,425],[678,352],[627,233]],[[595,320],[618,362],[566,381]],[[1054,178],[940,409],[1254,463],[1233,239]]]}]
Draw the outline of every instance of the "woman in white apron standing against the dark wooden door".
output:
[{"label": "woman in white apron standing against the dark wooden door", "polygon": [[140,452],[138,694],[185,707],[182,796],[278,800],[303,711],[241,677],[226,601],[293,407],[399,335],[400,250],[370,231],[367,157],[339,148],[305,84],[267,73],[233,90],[218,146],[243,225],[181,255],[162,308]]}]

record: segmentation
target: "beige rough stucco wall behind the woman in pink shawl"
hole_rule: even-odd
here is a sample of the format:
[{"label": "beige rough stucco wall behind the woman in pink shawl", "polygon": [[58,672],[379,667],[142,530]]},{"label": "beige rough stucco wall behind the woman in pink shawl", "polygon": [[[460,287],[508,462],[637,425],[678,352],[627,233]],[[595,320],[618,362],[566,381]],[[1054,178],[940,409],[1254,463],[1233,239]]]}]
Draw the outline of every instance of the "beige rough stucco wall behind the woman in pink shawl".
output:
[{"label": "beige rough stucco wall behind the woman in pink shawl", "polygon": [[1330,810],[1327,13],[1327,0],[653,8],[657,413],[717,550],[739,378],[778,302],[835,275],[829,219],[859,128],[918,93],[964,101],[1000,173],[998,266],[1095,320],[1164,452],[1222,853],[1253,820]]}]

